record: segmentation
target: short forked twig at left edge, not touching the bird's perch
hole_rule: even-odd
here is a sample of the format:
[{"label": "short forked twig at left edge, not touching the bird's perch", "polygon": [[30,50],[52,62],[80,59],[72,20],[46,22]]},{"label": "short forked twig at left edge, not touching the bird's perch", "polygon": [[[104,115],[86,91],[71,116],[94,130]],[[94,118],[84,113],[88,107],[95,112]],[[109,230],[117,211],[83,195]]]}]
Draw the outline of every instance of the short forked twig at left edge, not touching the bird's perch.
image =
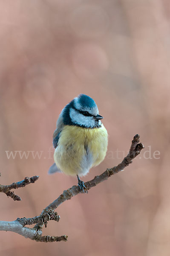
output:
[{"label": "short forked twig at left edge, not touching the bird's perch", "polygon": [[8,197],[11,197],[14,201],[21,201],[20,196],[15,195],[11,189],[18,189],[24,187],[30,183],[35,183],[35,181],[39,178],[39,176],[33,176],[31,178],[25,177],[24,180],[19,182],[14,182],[11,185],[0,185],[0,192],[5,193]]}]

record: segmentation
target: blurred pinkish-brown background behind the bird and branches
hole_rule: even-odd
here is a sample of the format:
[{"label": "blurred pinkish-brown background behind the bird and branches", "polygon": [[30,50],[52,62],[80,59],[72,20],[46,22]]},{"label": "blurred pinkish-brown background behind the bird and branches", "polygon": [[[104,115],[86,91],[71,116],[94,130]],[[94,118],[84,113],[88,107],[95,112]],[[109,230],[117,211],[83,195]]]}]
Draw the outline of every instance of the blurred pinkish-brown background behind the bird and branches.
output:
[{"label": "blurred pinkish-brown background behind the bird and branches", "polygon": [[0,232],[0,255],[168,256],[168,0],[0,1],[0,183],[40,175],[15,191],[22,201],[0,194],[0,220],[39,215],[77,183],[47,171],[58,115],[80,93],[95,100],[109,133],[104,162],[84,181],[120,163],[135,134],[145,149],[124,172],[58,207],[61,220],[43,235],[68,242]]}]

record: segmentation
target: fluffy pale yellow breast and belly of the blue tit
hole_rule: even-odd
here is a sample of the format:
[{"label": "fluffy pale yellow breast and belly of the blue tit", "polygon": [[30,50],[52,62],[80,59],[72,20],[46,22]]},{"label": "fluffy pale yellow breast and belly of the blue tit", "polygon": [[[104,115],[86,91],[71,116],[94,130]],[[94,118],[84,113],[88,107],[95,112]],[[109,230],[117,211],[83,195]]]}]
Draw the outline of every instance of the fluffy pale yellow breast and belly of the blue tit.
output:
[{"label": "fluffy pale yellow breast and belly of the blue tit", "polygon": [[84,176],[104,160],[107,142],[103,124],[93,129],[65,125],[55,149],[55,163],[67,175]]}]

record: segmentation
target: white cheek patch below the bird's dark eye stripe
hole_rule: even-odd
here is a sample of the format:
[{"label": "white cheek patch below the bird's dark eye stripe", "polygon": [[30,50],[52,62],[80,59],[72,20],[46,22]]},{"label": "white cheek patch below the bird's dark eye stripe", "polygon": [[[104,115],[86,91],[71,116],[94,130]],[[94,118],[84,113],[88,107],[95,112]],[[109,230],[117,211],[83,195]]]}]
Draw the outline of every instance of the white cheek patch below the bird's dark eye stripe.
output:
[{"label": "white cheek patch below the bird's dark eye stripe", "polygon": [[84,116],[81,113],[75,111],[75,109],[70,109],[69,112],[72,122],[78,125],[84,125],[87,128],[93,127],[95,125],[95,120],[92,116]]}]

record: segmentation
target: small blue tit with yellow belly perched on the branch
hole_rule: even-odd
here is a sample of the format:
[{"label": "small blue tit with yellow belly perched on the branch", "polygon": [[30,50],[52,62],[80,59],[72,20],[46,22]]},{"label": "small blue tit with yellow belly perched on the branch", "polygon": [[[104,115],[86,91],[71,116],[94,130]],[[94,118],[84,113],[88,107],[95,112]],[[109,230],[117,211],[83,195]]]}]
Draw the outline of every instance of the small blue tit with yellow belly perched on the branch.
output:
[{"label": "small blue tit with yellow belly perched on the branch", "polygon": [[84,192],[86,186],[80,177],[98,166],[107,152],[108,134],[101,119],[95,101],[85,94],[78,95],[63,108],[53,134],[55,163],[49,174],[62,172],[77,176],[78,186]]}]

